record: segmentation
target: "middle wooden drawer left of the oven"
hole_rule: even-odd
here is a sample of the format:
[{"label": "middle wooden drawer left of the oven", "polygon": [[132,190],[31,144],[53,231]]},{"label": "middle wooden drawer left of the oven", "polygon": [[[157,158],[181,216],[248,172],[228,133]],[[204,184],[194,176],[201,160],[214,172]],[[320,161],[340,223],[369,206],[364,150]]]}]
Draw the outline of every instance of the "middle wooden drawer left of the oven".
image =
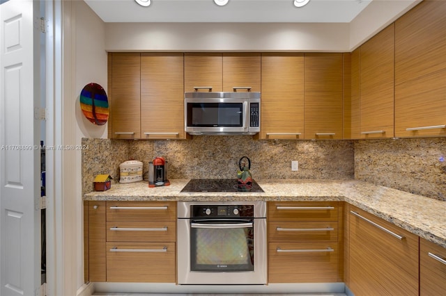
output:
[{"label": "middle wooden drawer left of the oven", "polygon": [[108,242],[174,242],[175,225],[168,222],[107,222]]}]

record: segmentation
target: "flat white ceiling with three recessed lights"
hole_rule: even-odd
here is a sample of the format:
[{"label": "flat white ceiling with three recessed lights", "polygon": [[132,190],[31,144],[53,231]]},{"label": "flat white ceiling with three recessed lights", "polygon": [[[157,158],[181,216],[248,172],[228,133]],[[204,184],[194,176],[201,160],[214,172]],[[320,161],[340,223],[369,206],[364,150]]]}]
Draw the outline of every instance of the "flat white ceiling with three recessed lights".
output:
[{"label": "flat white ceiling with three recessed lights", "polygon": [[213,0],[151,0],[148,7],[134,0],[84,1],[104,22],[349,23],[372,0],[310,0],[302,8],[293,0],[229,0],[226,6]]}]

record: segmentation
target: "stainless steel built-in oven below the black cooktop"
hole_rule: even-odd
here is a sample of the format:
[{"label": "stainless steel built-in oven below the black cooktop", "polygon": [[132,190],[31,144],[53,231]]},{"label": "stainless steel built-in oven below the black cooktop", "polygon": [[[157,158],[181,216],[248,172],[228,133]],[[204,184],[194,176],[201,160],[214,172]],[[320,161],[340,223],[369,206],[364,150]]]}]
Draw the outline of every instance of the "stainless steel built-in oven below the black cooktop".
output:
[{"label": "stainless steel built-in oven below the black cooktop", "polygon": [[265,202],[178,202],[178,284],[266,284]]}]

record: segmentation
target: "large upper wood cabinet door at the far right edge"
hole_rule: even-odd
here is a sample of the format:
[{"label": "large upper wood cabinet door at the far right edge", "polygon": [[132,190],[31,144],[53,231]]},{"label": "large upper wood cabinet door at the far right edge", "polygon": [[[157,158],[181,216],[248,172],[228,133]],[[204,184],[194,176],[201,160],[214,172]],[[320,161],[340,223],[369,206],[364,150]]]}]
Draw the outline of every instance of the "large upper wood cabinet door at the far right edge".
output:
[{"label": "large upper wood cabinet door at the far right edge", "polygon": [[446,1],[395,22],[395,136],[446,135]]}]

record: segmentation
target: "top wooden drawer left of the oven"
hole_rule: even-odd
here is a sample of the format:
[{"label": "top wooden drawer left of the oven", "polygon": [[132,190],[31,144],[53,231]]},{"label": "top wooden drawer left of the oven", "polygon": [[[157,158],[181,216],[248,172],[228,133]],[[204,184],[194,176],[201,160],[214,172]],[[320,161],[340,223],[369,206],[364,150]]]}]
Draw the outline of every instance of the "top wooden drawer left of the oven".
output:
[{"label": "top wooden drawer left of the oven", "polygon": [[176,202],[107,202],[107,221],[175,221]]}]

